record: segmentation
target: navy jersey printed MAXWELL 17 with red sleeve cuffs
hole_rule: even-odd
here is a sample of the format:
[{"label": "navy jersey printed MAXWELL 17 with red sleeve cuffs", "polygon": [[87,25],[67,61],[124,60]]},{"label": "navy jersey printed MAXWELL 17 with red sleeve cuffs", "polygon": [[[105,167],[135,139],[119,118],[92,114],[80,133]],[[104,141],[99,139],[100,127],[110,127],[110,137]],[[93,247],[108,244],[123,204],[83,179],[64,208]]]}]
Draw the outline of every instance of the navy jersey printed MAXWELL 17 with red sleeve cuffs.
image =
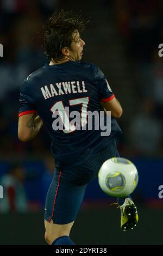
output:
[{"label": "navy jersey printed MAXWELL 17 with red sleeve cuffs", "polygon": [[75,124],[66,130],[54,130],[54,113],[63,112],[66,107],[82,112],[83,126],[86,125],[87,111],[101,111],[100,101],[113,99],[110,86],[103,72],[94,64],[72,62],[45,65],[33,72],[23,83],[20,93],[19,116],[28,113],[40,115],[52,138],[52,154],[57,166],[75,166],[95,156],[110,141],[121,133],[115,118],[111,118],[111,133],[101,136],[101,130],[78,130]]}]

